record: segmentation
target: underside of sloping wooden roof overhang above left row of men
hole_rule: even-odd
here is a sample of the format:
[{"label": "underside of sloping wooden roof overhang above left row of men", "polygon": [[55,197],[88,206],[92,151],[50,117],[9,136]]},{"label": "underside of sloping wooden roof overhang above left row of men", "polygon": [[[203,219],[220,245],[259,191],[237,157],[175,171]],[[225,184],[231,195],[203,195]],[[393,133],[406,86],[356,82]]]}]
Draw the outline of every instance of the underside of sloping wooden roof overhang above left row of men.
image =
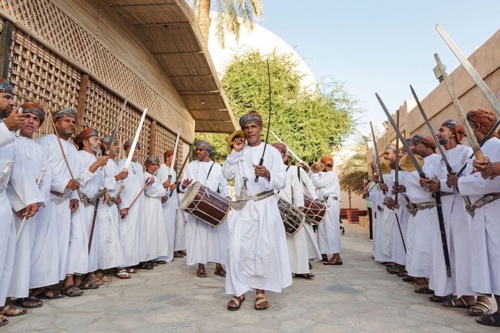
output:
[{"label": "underside of sloping wooden roof overhang above left row of men", "polygon": [[196,132],[231,133],[236,121],[193,11],[184,0],[109,0],[171,79]]}]

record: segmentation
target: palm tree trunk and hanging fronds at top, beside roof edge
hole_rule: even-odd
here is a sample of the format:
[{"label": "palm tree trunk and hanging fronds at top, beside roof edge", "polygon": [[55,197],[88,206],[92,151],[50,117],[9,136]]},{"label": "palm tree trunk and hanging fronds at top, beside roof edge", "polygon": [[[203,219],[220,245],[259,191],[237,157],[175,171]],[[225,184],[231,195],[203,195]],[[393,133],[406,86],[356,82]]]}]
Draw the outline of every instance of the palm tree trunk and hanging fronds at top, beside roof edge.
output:
[{"label": "palm tree trunk and hanging fronds at top, beside roof edge", "polygon": [[[210,0],[191,0],[201,34],[208,44],[208,29],[210,28]],[[253,29],[253,21],[263,18],[261,0],[217,0],[216,31],[218,42],[225,47],[225,31],[234,33],[236,41],[239,39],[241,24],[248,29]]]}]

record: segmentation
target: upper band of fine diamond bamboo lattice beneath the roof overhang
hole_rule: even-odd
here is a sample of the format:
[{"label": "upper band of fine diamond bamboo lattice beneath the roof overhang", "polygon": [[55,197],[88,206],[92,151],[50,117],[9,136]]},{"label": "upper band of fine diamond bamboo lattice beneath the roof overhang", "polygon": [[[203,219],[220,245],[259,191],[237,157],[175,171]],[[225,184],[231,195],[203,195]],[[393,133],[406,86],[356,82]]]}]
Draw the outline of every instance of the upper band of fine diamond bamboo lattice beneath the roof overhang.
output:
[{"label": "upper band of fine diamond bamboo lattice beneath the roof overhang", "polygon": [[[30,28],[32,34],[46,40],[55,49],[74,60],[77,66],[88,70],[91,77],[104,82],[123,95],[130,86],[133,86],[129,100],[137,105],[147,106],[151,115],[171,128],[177,128],[180,125],[184,137],[192,141],[194,138],[192,119],[175,108],[162,94],[118,60],[92,34],[80,27],[50,0],[0,0],[0,10],[15,17],[19,23]],[[101,17],[101,19],[104,18]],[[21,49],[22,47],[19,51]],[[43,50],[48,52],[47,49]],[[61,63],[61,65],[68,64]],[[53,68],[55,74],[57,74],[58,69],[57,66]],[[18,75],[22,76],[22,73],[18,73]],[[35,73],[30,74],[31,78],[34,76],[36,76]],[[41,83],[43,85],[44,82]],[[50,81],[46,83],[49,85]],[[32,81],[31,85],[34,84],[38,84],[38,82]],[[27,89],[35,90],[36,88],[31,86]],[[64,104],[63,101],[66,97],[68,96],[60,95],[59,104]]]}]

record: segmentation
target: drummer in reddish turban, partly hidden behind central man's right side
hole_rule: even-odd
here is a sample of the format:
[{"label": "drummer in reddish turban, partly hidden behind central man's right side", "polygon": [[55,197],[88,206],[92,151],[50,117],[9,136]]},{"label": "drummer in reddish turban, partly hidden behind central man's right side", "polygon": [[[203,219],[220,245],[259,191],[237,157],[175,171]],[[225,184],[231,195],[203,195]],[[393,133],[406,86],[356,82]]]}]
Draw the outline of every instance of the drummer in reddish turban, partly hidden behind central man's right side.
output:
[{"label": "drummer in reddish turban, partly hidden behind central man's right side", "polygon": [[[290,157],[287,154],[286,145],[281,142],[273,143],[272,146],[281,153],[283,163],[286,165],[286,187],[279,190],[279,197],[293,204],[300,210],[304,209],[304,195],[302,184],[298,180],[296,166],[290,166]],[[300,172],[300,171],[299,171]],[[283,221],[286,223],[286,221]],[[309,222],[304,222],[310,224]],[[307,253],[307,242],[305,240],[305,229],[300,229],[293,235],[286,234],[286,245],[288,247],[288,258],[290,259],[290,270],[295,277],[309,279],[314,277],[309,270],[309,258]]]}]

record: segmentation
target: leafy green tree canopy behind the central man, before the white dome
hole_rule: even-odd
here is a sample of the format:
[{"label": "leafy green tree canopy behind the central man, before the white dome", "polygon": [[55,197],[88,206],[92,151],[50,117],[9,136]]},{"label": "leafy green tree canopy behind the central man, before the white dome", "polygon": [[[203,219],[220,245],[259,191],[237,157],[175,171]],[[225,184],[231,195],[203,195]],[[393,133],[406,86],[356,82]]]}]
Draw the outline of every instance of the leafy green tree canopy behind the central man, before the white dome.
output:
[{"label": "leafy green tree canopy behind the central man, before the white dome", "polygon": [[[316,92],[303,89],[291,54],[270,54],[271,129],[302,159],[313,162],[341,147],[355,132],[360,113],[357,100],[332,80]],[[236,120],[247,112],[262,115],[267,125],[269,91],[266,58],[256,50],[235,56],[221,79]],[[319,92],[319,91],[322,91]],[[265,135],[265,128],[262,136]],[[226,154],[221,134],[198,134],[212,143],[216,154]],[[264,139],[264,137],[262,137]],[[276,140],[269,136],[269,143]]]}]

